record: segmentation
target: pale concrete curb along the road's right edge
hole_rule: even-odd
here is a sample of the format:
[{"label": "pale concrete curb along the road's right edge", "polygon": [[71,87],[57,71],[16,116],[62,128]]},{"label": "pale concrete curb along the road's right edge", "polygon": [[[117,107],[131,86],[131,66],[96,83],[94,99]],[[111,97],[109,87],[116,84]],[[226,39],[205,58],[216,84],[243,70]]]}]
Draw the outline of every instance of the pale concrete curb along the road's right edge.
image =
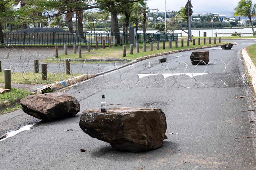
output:
[{"label": "pale concrete curb along the road's right edge", "polygon": [[251,77],[254,92],[256,93],[256,67],[253,64],[251,57],[248,55],[246,48],[242,49],[242,55],[247,67],[247,71]]}]

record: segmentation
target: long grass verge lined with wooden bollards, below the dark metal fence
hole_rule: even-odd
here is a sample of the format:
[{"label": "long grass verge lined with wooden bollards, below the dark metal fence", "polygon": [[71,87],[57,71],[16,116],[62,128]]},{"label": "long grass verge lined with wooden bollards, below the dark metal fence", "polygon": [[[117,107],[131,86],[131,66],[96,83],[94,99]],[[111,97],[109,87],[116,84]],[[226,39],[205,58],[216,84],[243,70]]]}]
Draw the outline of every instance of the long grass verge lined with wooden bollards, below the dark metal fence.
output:
[{"label": "long grass verge lined with wooden bollards, below the dark metal fence", "polygon": [[[99,48],[98,51],[91,49],[91,52],[87,52],[86,48],[82,49],[82,58],[78,57],[78,54],[68,54],[68,55],[59,55],[56,59],[101,59],[101,58],[109,58],[109,57],[116,57],[116,58],[124,58],[124,59],[136,59],[139,57],[161,53],[161,52],[167,52],[167,51],[173,51],[173,50],[179,50],[179,49],[187,49],[187,48],[194,48],[194,47],[200,47],[200,46],[208,46],[208,45],[216,45],[219,43],[214,44],[213,41],[211,44],[207,42],[205,45],[203,44],[203,41],[201,40],[201,45],[198,45],[198,41],[195,41],[196,45],[193,45],[192,42],[190,42],[190,46],[187,46],[187,40],[184,41],[184,47],[181,47],[181,41],[178,42],[178,48],[175,48],[175,42],[172,42],[172,48],[169,48],[169,42],[166,42],[166,49],[163,49],[163,42],[160,42],[160,50],[156,49],[157,44],[153,44],[153,51],[150,51],[150,45],[147,43],[147,49],[146,52],[143,52],[143,44],[140,44],[140,53],[136,53],[136,47],[133,47],[133,54],[130,54],[130,45],[126,45],[126,53],[127,57],[123,57],[123,47],[118,45],[117,47],[112,46],[112,48],[106,47],[105,49]],[[49,58],[51,60],[48,60],[48,62],[53,62],[54,57]]]}]

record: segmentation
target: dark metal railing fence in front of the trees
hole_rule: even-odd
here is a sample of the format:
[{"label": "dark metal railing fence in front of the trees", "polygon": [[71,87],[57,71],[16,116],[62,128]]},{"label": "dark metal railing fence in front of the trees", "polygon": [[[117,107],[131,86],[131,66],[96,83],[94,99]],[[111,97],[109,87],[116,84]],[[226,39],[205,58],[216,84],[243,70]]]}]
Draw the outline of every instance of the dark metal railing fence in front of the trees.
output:
[{"label": "dark metal railing fence in front of the trees", "polygon": [[[120,33],[84,33],[84,34],[72,34],[72,33],[4,33],[4,43],[12,45],[63,45],[63,44],[82,44],[87,45],[90,42],[91,45],[95,45],[98,41],[99,45],[102,45],[105,40],[105,45],[109,43],[114,44],[116,38],[122,39],[123,44],[129,44],[129,34]],[[164,33],[152,33],[141,34],[138,33],[137,42],[149,42],[149,39],[153,42],[156,41],[175,41],[178,39],[178,34],[164,34]],[[110,42],[111,41],[111,42]]]}]

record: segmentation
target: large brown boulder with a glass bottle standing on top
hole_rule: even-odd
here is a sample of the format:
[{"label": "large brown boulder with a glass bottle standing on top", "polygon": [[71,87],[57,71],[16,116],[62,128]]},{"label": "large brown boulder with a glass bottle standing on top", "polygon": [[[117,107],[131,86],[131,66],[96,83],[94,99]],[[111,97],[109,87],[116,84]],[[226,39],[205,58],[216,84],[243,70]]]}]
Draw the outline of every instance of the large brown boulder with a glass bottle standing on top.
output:
[{"label": "large brown boulder with a glass bottle standing on top", "polygon": [[108,108],[104,113],[86,110],[79,126],[91,137],[123,151],[156,149],[167,139],[165,114],[155,108]]}]

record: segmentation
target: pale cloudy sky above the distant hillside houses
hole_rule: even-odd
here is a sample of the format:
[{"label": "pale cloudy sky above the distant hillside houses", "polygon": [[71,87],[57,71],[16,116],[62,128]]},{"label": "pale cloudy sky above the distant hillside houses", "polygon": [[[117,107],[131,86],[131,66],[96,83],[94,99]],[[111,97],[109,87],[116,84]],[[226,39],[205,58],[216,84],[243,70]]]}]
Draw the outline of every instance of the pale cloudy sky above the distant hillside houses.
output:
[{"label": "pale cloudy sky above the distant hillside houses", "polygon": [[[188,0],[166,0],[166,9],[178,11]],[[239,0],[192,0],[194,13],[219,13],[231,17]],[[256,0],[252,0],[256,3]],[[150,9],[165,9],[165,0],[148,0]]]}]

